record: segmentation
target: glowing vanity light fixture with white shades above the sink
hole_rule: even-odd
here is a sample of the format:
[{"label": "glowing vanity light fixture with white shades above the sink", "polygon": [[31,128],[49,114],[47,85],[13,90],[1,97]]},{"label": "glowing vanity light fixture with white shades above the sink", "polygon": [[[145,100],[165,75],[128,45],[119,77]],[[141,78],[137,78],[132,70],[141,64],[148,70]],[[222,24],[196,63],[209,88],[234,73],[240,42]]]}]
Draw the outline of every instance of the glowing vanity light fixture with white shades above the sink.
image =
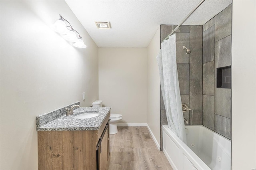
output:
[{"label": "glowing vanity light fixture with white shades above the sink", "polygon": [[[70,42],[74,42],[74,46],[78,48],[86,48],[86,45],[84,44],[84,41],[82,40],[82,37],[80,34],[72,28],[70,23],[65,20],[61,15],[60,19],[58,19],[54,25],[53,25],[53,30],[60,33],[60,34],[65,34],[63,37],[65,40],[68,40]],[[68,23],[68,25],[67,25]],[[78,34],[78,38],[77,38]]]}]

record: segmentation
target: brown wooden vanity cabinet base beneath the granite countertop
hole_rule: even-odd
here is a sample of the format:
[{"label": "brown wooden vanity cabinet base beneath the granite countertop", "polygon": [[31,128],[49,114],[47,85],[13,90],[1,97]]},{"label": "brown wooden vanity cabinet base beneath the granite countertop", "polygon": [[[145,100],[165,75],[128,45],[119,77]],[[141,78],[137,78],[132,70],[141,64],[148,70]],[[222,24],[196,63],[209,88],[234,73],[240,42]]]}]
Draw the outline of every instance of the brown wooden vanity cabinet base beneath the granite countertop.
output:
[{"label": "brown wooden vanity cabinet base beneath the granite countertop", "polygon": [[38,169],[107,170],[109,118],[110,112],[98,130],[38,131]]}]

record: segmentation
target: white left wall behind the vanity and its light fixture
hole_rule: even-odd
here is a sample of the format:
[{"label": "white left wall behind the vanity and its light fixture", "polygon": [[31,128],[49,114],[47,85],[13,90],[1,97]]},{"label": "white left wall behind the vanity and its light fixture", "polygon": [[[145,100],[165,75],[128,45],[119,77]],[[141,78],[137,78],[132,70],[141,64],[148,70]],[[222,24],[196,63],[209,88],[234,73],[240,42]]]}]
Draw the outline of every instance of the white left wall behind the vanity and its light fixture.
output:
[{"label": "white left wall behind the vanity and its light fixture", "polygon": [[[62,14],[87,45],[50,26]],[[38,168],[36,116],[98,99],[98,47],[65,1],[1,1],[1,167]],[[86,100],[82,101],[82,92]]]}]

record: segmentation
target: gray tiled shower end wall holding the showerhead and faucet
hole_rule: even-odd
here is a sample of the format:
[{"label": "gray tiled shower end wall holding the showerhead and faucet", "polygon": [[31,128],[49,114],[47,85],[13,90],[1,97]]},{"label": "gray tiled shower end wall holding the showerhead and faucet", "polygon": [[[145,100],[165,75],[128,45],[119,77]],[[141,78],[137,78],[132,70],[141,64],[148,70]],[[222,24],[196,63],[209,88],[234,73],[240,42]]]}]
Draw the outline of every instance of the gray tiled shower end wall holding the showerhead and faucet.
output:
[{"label": "gray tiled shower end wall holding the showerhead and faucet", "polygon": [[[174,28],[174,25],[161,25],[161,42]],[[186,50],[182,48],[184,45],[192,51],[190,54],[186,54]],[[202,47],[202,26],[180,26],[176,31],[176,61],[181,100],[192,109],[183,114],[189,125],[202,125]],[[162,150],[162,125],[168,125],[162,93],[160,109]]]}]

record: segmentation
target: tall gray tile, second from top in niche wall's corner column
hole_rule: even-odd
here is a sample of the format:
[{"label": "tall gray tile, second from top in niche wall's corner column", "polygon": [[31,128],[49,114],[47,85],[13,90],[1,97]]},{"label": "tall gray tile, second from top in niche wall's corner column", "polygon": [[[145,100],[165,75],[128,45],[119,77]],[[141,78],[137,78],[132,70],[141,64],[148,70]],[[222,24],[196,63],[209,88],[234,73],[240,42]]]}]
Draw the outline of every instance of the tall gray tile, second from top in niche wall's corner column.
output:
[{"label": "tall gray tile, second from top in niche wall's corner column", "polygon": [[214,26],[203,32],[203,63],[214,60],[214,36]]}]

